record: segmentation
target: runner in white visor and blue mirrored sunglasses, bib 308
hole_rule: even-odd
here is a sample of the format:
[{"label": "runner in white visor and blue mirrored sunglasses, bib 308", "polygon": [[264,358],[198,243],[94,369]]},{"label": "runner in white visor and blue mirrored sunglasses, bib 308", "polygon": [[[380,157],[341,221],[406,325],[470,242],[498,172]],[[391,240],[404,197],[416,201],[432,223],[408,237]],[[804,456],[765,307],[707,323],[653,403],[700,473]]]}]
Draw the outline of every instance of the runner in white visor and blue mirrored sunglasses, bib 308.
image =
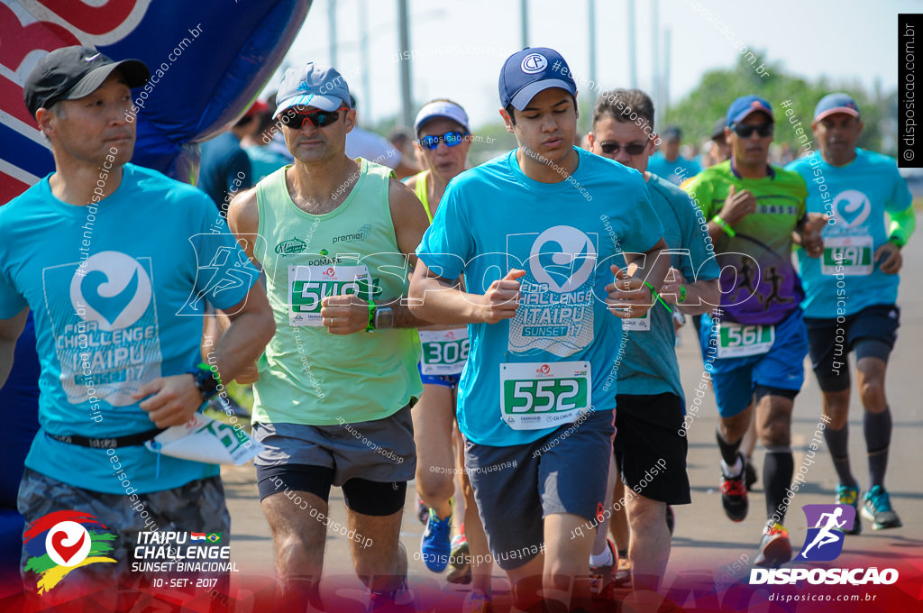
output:
[{"label": "runner in white visor and blue mirrored sunglasses, bib 308", "polygon": [[[424,104],[414,121],[417,138],[414,150],[425,170],[414,174],[406,184],[423,203],[432,222],[450,180],[465,169],[471,149],[471,128],[462,106],[447,99]],[[464,469],[461,438],[455,426],[455,406],[462,368],[470,344],[464,326],[436,326],[420,330],[423,357],[420,372],[423,397],[414,406],[414,437],[417,449],[416,487],[427,507],[426,530],[420,549],[426,568],[441,572],[452,569],[450,583],[472,583],[465,596],[467,611],[485,610],[490,597],[491,569],[484,527],[477,514],[471,481]],[[454,434],[454,436],[453,436]],[[454,452],[456,448],[457,453]],[[462,490],[462,518],[458,534],[449,539],[453,518],[452,494],[456,491],[452,468],[462,468],[458,480]],[[470,536],[470,537],[469,537]],[[450,555],[451,554],[451,555]]]}]

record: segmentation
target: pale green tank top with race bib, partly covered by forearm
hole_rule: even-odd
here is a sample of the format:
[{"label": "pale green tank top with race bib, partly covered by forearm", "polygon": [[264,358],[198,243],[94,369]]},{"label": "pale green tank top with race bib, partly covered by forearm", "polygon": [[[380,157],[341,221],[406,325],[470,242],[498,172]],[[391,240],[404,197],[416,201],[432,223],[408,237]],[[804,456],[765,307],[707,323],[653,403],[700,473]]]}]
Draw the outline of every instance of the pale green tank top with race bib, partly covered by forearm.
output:
[{"label": "pale green tank top with race bib, partly covered by forearm", "polygon": [[406,295],[408,265],[388,202],[391,171],[358,162],[353,191],[323,215],[295,206],[285,185],[288,166],[257,185],[254,253],[266,274],[276,333],[258,361],[254,423],[330,426],[382,419],[423,393],[416,330],[340,336],[317,325],[323,296]]}]

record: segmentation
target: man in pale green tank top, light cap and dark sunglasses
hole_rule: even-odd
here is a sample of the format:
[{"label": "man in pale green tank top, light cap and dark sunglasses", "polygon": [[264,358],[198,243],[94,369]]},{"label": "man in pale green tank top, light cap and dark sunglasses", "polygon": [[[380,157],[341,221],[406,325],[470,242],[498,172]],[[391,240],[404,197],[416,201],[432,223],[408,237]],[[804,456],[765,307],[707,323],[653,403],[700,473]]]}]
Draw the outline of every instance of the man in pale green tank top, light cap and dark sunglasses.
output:
[{"label": "man in pale green tank top, light cap and dark sunglasses", "polygon": [[[259,496],[288,607],[318,603],[330,487],[373,609],[409,607],[400,543],[423,386],[401,297],[426,213],[389,168],[345,154],[355,126],[335,69],[290,68],[276,116],[294,164],[234,198],[228,222],[266,273],[277,331],[258,361]],[[287,609],[286,609],[287,610]]]}]

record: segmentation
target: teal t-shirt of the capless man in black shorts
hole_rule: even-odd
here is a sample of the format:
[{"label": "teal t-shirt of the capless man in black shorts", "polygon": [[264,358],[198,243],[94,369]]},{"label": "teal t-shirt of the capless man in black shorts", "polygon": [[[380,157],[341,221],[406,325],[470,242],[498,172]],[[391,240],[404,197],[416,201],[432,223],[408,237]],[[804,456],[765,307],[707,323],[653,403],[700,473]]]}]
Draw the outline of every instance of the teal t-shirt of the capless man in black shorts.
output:
[{"label": "teal t-shirt of the capless man in black shorts", "polygon": [[[656,174],[651,174],[647,188],[653,210],[664,225],[664,240],[671,252],[670,266],[682,272],[689,283],[717,279],[721,269],[701,210],[686,192]],[[622,325],[628,331],[628,338],[618,367],[618,393],[669,392],[683,400],[672,313],[658,301],[646,317],[626,319]]]}]

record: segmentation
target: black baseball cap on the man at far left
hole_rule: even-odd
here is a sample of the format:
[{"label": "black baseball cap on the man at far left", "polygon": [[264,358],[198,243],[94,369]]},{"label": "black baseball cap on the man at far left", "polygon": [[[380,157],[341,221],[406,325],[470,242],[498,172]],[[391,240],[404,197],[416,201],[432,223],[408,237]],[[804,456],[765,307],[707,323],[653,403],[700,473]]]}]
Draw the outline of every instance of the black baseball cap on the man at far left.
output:
[{"label": "black baseball cap on the man at far left", "polygon": [[148,82],[150,70],[140,60],[115,62],[92,47],[74,45],[55,49],[39,60],[26,78],[22,97],[30,114],[59,100],[77,100],[97,90],[115,69],[130,88]]}]

